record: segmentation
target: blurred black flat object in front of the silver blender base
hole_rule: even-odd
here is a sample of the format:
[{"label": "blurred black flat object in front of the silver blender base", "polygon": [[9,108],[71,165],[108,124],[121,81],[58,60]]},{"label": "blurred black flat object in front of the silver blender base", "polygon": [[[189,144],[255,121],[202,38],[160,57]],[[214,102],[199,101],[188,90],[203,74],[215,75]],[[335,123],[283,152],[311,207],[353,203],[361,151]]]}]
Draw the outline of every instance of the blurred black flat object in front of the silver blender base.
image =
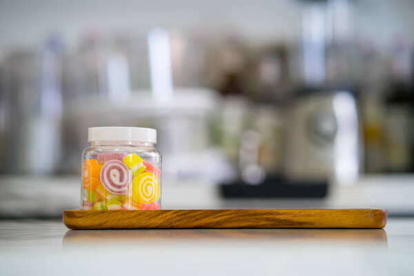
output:
[{"label": "blurred black flat object in front of the silver blender base", "polygon": [[221,184],[219,190],[224,198],[324,198],[328,194],[328,181],[266,179],[259,185]]}]

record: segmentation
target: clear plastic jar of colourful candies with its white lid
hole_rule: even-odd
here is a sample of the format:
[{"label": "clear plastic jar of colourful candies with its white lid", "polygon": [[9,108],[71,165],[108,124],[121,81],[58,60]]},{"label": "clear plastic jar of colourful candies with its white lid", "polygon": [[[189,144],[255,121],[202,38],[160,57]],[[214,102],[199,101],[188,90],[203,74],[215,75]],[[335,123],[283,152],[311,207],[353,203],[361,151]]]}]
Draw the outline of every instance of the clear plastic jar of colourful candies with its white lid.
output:
[{"label": "clear plastic jar of colourful candies with its white lid", "polygon": [[152,128],[88,129],[81,210],[159,210],[161,153]]}]

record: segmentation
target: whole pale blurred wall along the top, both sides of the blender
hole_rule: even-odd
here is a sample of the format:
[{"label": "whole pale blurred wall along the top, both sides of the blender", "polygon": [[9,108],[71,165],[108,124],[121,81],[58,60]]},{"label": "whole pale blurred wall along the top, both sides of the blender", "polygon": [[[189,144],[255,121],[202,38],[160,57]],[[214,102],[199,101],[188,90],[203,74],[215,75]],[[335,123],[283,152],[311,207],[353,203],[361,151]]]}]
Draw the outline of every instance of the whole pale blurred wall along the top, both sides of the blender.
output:
[{"label": "whole pale blurred wall along the top, both sides of the blender", "polygon": [[[81,34],[151,26],[237,30],[248,39],[296,40],[302,34],[299,0],[0,0],[0,49],[32,47],[52,32],[69,44]],[[414,37],[414,1],[355,0],[355,31],[386,45],[396,34]]]}]

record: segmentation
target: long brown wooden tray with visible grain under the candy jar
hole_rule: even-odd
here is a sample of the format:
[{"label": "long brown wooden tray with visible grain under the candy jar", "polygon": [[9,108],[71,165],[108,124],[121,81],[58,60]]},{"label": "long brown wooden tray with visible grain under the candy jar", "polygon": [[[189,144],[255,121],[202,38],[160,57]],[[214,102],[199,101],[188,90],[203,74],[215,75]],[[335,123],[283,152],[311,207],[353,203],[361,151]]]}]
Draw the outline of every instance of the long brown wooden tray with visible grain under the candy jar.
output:
[{"label": "long brown wooden tray with visible grain under the candy jar", "polygon": [[70,229],[384,228],[387,212],[346,210],[66,210]]}]

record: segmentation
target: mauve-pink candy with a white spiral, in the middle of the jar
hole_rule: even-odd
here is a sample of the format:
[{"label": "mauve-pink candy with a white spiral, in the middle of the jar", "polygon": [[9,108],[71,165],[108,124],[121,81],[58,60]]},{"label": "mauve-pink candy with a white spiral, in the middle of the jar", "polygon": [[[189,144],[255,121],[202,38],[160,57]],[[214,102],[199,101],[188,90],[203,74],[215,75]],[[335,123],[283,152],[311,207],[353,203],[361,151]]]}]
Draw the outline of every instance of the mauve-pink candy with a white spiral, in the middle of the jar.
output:
[{"label": "mauve-pink candy with a white spiral, in the middle of the jar", "polygon": [[127,194],[130,184],[128,166],[119,160],[106,161],[101,169],[101,182],[114,195]]}]

